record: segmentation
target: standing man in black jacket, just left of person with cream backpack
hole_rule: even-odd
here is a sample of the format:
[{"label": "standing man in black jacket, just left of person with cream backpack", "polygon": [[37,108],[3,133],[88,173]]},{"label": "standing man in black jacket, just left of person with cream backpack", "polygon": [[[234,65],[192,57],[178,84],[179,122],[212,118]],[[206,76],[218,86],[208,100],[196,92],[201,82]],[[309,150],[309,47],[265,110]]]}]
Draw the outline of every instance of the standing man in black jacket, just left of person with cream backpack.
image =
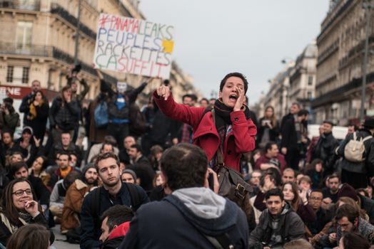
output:
[{"label": "standing man in black jacket, just left of person with cream backpack", "polygon": [[323,174],[328,176],[333,174],[334,164],[336,161],[335,149],[339,143],[333,136],[333,122],[323,121],[323,134],[320,135],[317,144],[313,148],[313,159],[323,161]]}]

